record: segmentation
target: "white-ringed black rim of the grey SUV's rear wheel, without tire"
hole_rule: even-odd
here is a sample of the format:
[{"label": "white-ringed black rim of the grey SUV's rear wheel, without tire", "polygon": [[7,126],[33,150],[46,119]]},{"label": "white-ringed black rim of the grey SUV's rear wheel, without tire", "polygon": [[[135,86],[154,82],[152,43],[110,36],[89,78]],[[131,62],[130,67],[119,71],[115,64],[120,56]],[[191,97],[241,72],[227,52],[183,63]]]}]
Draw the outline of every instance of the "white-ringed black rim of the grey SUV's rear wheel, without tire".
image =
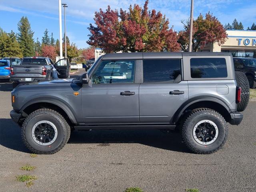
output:
[{"label": "white-ringed black rim of the grey SUV's rear wheel, without tire", "polygon": [[218,127],[211,120],[202,120],[193,128],[193,137],[199,144],[209,145],[218,138]]}]

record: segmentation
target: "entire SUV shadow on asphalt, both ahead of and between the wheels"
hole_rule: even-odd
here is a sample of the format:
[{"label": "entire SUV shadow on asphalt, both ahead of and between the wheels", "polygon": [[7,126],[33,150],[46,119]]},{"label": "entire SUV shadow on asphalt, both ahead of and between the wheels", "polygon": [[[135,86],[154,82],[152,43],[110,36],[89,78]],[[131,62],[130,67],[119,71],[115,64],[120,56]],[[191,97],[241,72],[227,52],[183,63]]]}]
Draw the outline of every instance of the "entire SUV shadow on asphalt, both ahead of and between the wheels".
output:
[{"label": "entire SUV shadow on asphalt, both ahead of and between the wheels", "polygon": [[[139,143],[165,150],[190,152],[182,143],[180,134],[176,132],[166,134],[156,129],[75,130],[71,133],[68,143],[95,143],[102,144],[102,146],[110,143]],[[22,142],[19,126],[12,119],[0,119],[0,145],[12,150],[30,153]]]}]

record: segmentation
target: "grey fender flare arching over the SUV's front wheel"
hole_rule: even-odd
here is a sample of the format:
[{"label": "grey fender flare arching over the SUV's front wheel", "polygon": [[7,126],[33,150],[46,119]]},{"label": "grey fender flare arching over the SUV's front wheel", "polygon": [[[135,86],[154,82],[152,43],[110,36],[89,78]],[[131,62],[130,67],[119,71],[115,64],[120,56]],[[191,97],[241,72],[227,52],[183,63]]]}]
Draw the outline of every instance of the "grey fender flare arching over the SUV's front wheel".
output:
[{"label": "grey fender flare arching over the SUV's front wheel", "polygon": [[22,108],[20,109],[20,113],[23,112],[23,110],[28,106],[36,103],[50,103],[60,107],[68,115],[68,118],[70,119],[70,121],[74,124],[77,124],[76,118],[72,110],[70,110],[70,108],[66,104],[64,104],[64,102],[52,97],[43,97],[43,98],[40,97],[40,98],[35,98],[33,100],[30,100],[29,102],[27,102],[22,106]]}]

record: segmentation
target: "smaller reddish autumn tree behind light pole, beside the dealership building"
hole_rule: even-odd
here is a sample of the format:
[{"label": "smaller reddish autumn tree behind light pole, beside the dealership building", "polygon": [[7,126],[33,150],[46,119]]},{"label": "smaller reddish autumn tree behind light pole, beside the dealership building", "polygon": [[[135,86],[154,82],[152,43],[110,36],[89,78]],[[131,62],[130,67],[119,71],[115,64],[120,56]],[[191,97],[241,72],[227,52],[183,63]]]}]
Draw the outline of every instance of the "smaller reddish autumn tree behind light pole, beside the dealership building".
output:
[{"label": "smaller reddish autumn tree behind light pole, beside the dealership building", "polygon": [[[184,21],[182,23],[184,24],[184,30],[179,32],[178,42],[183,51],[188,51],[190,22],[187,20],[186,23]],[[198,51],[198,48],[204,48],[208,43],[217,42],[220,46],[224,44],[226,38],[227,34],[224,26],[210,12],[205,15],[205,18],[200,14],[193,21],[192,50],[194,52]]]}]

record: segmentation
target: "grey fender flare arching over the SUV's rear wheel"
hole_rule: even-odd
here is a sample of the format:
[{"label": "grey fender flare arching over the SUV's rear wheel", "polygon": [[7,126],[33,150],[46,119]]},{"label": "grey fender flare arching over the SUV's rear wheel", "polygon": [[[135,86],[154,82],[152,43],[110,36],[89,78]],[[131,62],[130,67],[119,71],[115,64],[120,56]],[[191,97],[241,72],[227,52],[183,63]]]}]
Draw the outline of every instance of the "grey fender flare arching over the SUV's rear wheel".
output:
[{"label": "grey fender flare arching over the SUV's rear wheel", "polygon": [[211,102],[218,103],[218,104],[222,105],[227,110],[227,112],[229,112],[229,113],[231,112],[229,106],[224,101],[222,101],[220,98],[217,98],[214,96],[198,96],[198,97],[191,98],[191,99],[187,100],[186,102],[184,102],[180,106],[180,108],[176,111],[176,113],[174,114],[174,116],[172,118],[172,122],[174,122],[174,123],[178,122],[180,116],[182,115],[182,112],[186,108],[188,108],[190,105],[197,103],[197,102],[202,102],[202,101],[211,101]]}]

